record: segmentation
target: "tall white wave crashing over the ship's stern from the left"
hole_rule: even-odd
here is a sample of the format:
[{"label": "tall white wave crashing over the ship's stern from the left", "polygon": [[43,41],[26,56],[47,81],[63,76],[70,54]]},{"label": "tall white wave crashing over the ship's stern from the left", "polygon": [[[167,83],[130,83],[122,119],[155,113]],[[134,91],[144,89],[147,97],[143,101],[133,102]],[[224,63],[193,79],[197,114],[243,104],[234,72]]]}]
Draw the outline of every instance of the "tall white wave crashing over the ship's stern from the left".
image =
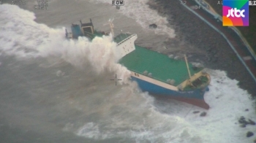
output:
[{"label": "tall white wave crashing over the ship's stern from the left", "polygon": [[[100,74],[105,70],[116,72],[120,83],[127,83],[129,71],[118,64],[121,56],[116,53],[112,36],[102,36],[89,41],[65,39],[64,28],[49,28],[34,21],[34,13],[9,4],[0,9],[1,53],[17,58],[56,58],[74,66],[84,66],[89,61]],[[53,61],[52,61],[53,62]]]}]

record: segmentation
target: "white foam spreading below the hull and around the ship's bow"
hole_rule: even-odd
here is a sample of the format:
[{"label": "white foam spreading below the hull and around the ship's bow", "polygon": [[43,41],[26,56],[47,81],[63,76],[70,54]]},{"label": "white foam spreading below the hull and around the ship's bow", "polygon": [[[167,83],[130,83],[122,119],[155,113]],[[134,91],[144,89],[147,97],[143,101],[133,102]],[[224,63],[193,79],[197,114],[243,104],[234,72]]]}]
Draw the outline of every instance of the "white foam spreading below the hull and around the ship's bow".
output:
[{"label": "white foam spreading below the hull and around the ship's bow", "polygon": [[[205,95],[206,102],[211,107],[208,110],[186,104],[181,108],[183,104],[176,104],[176,101],[152,105],[153,100],[145,93],[140,93],[147,103],[142,98],[130,99],[132,104],[118,106],[121,109],[118,114],[111,114],[114,111],[107,112],[113,115],[111,119],[102,119],[110,120],[108,125],[98,122],[94,123],[98,128],[90,129],[87,125],[89,123],[86,123],[78,129],[77,134],[86,137],[97,136],[94,139],[131,137],[136,142],[253,142],[253,138],[246,138],[246,132],[255,132],[254,125],[241,128],[238,123],[241,116],[252,120],[256,118],[249,94],[246,90],[238,88],[238,81],[230,80],[225,71],[208,69],[208,72],[211,74],[210,91]],[[122,92],[126,93],[124,90]],[[138,96],[138,93],[133,96]],[[140,102],[139,107],[136,101]],[[129,100],[126,102],[129,103]],[[245,109],[249,109],[249,112],[245,112]],[[168,113],[162,114],[158,110]],[[193,111],[207,112],[207,115],[200,117],[200,113],[194,114]]]}]

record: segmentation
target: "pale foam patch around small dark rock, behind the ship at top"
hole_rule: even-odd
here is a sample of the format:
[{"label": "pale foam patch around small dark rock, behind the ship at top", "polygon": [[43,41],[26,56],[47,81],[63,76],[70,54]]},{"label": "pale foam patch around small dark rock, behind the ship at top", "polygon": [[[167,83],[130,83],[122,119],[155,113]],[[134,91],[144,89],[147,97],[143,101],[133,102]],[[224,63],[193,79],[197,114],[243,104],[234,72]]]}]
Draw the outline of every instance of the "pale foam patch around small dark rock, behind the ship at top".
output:
[{"label": "pale foam patch around small dark rock, behind the ship at top", "polygon": [[[112,4],[112,1],[109,0],[91,0],[95,4],[98,3],[106,3]],[[140,24],[144,29],[151,30],[148,28],[150,24],[157,24],[157,28],[154,29],[155,34],[159,35],[167,35],[170,38],[176,36],[175,31],[173,28],[169,27],[169,23],[167,18],[162,17],[157,13],[157,11],[152,10],[148,6],[148,0],[130,0],[124,1],[124,6],[121,6],[121,9],[118,11],[121,12],[123,15],[127,16],[128,18],[135,19],[137,23]]]}]

